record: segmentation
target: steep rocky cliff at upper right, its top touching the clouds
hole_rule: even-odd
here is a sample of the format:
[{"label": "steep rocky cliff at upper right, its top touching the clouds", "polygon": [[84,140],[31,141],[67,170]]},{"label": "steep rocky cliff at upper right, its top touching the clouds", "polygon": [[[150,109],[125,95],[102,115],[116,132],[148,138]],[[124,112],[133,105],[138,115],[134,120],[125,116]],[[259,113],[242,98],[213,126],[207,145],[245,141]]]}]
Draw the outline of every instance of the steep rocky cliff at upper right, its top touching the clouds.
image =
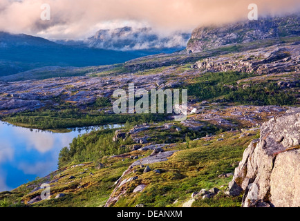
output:
[{"label": "steep rocky cliff at upper right, its top touching the clouds", "polygon": [[300,34],[300,17],[264,18],[243,21],[222,27],[196,28],[187,44],[187,52],[217,48],[227,44]]}]

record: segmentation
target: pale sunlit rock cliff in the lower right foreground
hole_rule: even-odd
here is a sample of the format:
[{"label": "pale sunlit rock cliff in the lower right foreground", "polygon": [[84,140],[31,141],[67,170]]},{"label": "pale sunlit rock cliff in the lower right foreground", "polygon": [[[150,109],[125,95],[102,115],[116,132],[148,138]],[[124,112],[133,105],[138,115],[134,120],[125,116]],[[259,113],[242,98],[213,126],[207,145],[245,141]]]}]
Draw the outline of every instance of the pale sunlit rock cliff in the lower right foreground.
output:
[{"label": "pale sunlit rock cliff in the lower right foreground", "polygon": [[300,206],[300,108],[270,119],[243,154],[229,195],[245,191],[243,206]]}]

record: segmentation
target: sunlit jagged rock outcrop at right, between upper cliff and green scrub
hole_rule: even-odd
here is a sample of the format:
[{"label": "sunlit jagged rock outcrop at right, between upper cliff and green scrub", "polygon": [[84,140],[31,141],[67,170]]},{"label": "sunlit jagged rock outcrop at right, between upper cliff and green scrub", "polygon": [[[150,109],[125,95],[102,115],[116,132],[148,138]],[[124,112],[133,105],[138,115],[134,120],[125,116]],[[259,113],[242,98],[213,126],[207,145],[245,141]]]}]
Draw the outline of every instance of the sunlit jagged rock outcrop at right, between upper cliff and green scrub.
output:
[{"label": "sunlit jagged rock outcrop at right, between upper cliff and green scrub", "polygon": [[300,42],[282,48],[271,46],[270,50],[250,50],[228,57],[209,57],[197,61],[193,68],[207,72],[237,71],[258,75],[285,73],[300,70]]}]

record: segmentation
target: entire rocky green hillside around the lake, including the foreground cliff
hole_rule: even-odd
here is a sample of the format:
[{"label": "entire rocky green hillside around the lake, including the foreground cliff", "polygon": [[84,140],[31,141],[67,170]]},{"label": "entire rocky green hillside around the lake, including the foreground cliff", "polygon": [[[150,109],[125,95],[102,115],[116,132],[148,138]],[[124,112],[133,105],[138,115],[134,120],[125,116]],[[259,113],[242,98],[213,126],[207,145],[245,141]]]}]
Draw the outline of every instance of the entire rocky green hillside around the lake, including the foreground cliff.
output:
[{"label": "entire rocky green hillside around the lake, including the foreground cliff", "polygon": [[[207,44],[195,31],[180,52],[64,70],[82,76],[1,77],[2,121],[42,130],[123,125],[76,137],[59,153],[57,171],[0,193],[1,205],[299,206],[300,35],[292,18],[261,21],[257,28],[268,28],[250,41],[215,41],[256,26],[232,24],[235,31],[207,34]],[[285,35],[269,35],[275,25]],[[187,89],[187,119],[113,113],[113,91],[129,83]],[[50,200],[41,200],[45,182]]]}]

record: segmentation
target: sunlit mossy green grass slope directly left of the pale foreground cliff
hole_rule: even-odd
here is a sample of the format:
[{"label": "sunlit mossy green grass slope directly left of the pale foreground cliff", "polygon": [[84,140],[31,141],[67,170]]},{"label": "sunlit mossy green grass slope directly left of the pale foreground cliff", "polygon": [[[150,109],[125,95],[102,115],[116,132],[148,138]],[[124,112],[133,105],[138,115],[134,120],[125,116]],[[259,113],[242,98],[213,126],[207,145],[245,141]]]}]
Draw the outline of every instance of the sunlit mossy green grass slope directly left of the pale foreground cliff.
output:
[{"label": "sunlit mossy green grass slope directly left of the pale foreground cliff", "polygon": [[[221,178],[218,175],[234,171],[244,149],[253,139],[238,139],[239,135],[232,133],[224,135],[226,139],[221,142],[189,141],[192,148],[179,151],[167,162],[151,164],[152,171],[149,173],[142,173],[138,166],[133,168],[137,170],[135,175],[138,176],[138,180],[124,184],[129,193],[114,206],[135,206],[140,203],[145,206],[181,206],[191,199],[191,193],[194,191],[213,187],[224,191],[232,177]],[[207,144],[209,145],[206,146]],[[157,174],[154,170],[160,170],[162,173]],[[131,176],[127,175],[124,178]],[[131,193],[139,184],[146,184],[147,187],[142,193]],[[221,194],[211,200],[198,200],[194,206],[241,206],[241,196],[234,198]]]}]

